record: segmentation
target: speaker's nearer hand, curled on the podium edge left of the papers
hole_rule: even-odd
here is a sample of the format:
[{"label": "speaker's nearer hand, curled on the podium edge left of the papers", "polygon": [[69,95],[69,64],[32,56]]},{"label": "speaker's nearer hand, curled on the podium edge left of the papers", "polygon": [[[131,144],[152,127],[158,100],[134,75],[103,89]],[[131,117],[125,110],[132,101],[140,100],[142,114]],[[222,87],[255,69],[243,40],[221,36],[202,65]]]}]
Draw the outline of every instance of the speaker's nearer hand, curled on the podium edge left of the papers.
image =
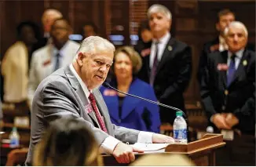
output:
[{"label": "speaker's nearer hand, curled on the podium edge left of the papers", "polygon": [[119,163],[130,163],[135,160],[133,152],[143,153],[144,151],[137,150],[130,145],[120,142],[115,146],[113,155]]}]

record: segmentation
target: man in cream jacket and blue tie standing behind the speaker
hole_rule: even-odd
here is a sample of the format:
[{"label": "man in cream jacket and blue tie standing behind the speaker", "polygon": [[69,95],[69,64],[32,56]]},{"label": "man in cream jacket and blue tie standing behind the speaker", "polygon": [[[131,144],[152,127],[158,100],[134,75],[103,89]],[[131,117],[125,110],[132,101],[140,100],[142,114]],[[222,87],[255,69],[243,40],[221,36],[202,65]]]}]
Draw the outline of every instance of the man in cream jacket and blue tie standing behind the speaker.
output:
[{"label": "man in cream jacket and blue tie standing behind the speaker", "polygon": [[67,20],[55,20],[50,31],[53,42],[33,53],[27,90],[30,107],[35,89],[42,79],[58,68],[71,64],[79,44],[68,40],[70,32],[71,27]]}]

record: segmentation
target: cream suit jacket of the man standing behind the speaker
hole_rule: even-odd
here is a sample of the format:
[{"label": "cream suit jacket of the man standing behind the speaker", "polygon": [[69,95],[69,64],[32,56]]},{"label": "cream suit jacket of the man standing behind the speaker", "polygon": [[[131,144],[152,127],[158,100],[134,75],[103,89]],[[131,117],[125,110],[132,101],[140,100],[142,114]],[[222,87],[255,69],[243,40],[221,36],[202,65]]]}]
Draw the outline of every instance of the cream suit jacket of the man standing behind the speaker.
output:
[{"label": "cream suit jacket of the man standing behind the speaker", "polygon": [[57,52],[61,55],[60,67],[66,67],[72,63],[73,57],[79,49],[79,46],[79,43],[68,40],[60,51],[58,51],[52,44],[48,44],[32,54],[27,88],[30,108],[38,85],[44,78],[54,71]]}]

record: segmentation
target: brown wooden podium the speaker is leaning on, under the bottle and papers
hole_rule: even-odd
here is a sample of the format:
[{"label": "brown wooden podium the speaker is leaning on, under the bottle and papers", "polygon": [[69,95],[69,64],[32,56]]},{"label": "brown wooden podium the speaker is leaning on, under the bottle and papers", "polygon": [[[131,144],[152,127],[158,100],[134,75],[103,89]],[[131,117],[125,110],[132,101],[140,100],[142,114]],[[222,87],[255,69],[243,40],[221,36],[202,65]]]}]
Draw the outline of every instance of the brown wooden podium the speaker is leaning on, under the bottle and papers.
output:
[{"label": "brown wooden podium the speaker is leaning on, under the bottle and papers", "polygon": [[[148,152],[136,154],[136,158],[140,158],[144,154],[185,154],[196,165],[215,165],[215,151],[219,147],[223,147],[223,136],[221,134],[209,133],[203,136],[201,140],[196,140],[188,144],[170,144],[165,150],[157,152]],[[127,165],[119,164],[111,155],[103,155],[104,165]],[[135,160],[136,161],[136,160]]]}]

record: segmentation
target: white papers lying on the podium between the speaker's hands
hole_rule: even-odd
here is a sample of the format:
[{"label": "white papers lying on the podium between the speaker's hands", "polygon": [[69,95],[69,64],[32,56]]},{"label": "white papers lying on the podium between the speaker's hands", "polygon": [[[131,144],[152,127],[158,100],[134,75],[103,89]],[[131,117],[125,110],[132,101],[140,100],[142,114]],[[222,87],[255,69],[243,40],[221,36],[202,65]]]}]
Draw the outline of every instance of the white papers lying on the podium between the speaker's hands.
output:
[{"label": "white papers lying on the podium between the speaker's hands", "polygon": [[141,151],[159,151],[166,148],[170,143],[134,143],[133,147]]}]

